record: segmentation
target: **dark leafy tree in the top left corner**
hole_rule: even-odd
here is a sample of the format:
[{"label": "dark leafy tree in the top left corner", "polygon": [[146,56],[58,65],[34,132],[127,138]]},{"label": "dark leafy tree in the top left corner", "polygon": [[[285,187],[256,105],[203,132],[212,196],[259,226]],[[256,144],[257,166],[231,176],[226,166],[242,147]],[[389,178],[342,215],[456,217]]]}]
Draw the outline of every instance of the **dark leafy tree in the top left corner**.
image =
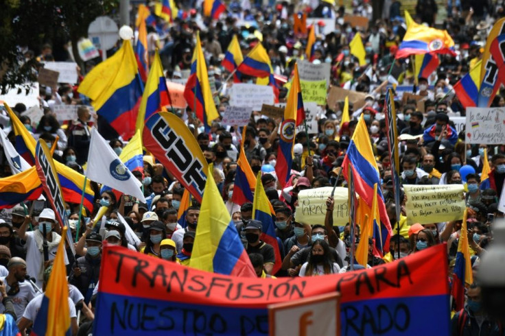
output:
[{"label": "dark leafy tree in the top left corner", "polygon": [[34,80],[36,62],[25,62],[26,47],[38,53],[44,43],[60,47],[70,41],[75,61],[82,64],[78,40],[97,16],[118,7],[119,0],[0,0],[0,91]]}]

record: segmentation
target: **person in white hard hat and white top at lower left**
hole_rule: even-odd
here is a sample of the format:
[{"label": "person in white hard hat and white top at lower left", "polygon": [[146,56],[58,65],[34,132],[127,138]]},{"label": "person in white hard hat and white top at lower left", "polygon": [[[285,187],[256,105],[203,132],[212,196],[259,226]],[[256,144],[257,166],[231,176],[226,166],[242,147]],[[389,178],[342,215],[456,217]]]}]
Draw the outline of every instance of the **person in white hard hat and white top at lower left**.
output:
[{"label": "person in white hard hat and white top at lower left", "polygon": [[[58,250],[61,236],[53,232],[56,225],[54,211],[49,208],[43,209],[38,217],[38,227],[34,231],[27,232],[28,224],[32,221],[30,216],[25,217],[25,221],[19,228],[19,238],[26,241],[26,261],[27,271],[32,278],[36,279],[36,285],[41,287],[44,281],[44,238],[47,240],[47,250],[49,251],[49,261],[53,260]],[[45,237],[43,235],[45,232]],[[69,264],[67,254],[64,254],[65,265]]]}]

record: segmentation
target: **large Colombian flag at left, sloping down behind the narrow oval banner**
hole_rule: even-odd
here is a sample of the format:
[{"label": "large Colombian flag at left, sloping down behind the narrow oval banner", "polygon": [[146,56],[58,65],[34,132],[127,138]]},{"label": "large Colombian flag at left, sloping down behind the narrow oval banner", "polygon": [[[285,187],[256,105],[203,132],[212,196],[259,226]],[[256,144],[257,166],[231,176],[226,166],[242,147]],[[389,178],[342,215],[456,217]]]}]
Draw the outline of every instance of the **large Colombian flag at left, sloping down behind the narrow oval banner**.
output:
[{"label": "large Colombian flag at left, sloping down behind the narrow oval banner", "polygon": [[[36,147],[34,137],[30,134],[30,132],[28,132],[25,125],[21,123],[10,107],[7,104],[4,104],[4,106],[10,117],[14,134],[16,134],[16,148],[18,145],[25,148],[25,154],[30,159],[28,162],[34,163]],[[56,171],[58,171],[58,180],[60,180],[63,200],[68,203],[80,204],[82,188],[84,186],[84,176],[58,161],[54,161],[54,165],[56,165]],[[84,207],[86,207],[89,211],[93,211],[94,197],[95,193],[90,187],[90,181],[87,181],[84,192]]]}]

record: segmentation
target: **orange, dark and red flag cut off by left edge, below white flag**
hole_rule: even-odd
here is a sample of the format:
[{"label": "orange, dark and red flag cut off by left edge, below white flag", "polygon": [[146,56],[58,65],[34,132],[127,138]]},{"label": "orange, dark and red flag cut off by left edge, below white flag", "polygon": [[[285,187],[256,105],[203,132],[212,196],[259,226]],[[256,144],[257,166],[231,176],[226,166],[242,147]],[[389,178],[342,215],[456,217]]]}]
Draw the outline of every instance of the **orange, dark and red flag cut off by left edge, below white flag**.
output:
[{"label": "orange, dark and red flag cut off by left edge, below white flag", "polygon": [[12,208],[21,202],[36,200],[42,184],[35,167],[16,175],[0,178],[0,209]]}]

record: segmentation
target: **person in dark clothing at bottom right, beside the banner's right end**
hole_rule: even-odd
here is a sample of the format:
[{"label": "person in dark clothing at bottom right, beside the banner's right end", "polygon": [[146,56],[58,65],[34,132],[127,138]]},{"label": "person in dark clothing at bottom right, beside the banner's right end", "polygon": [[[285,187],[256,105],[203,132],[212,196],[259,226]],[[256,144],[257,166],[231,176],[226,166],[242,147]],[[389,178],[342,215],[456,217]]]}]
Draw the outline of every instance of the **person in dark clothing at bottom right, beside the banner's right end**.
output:
[{"label": "person in dark clothing at bottom right, beside the banner's right end", "polygon": [[480,291],[478,283],[467,289],[465,307],[451,318],[451,335],[503,335],[502,325],[484,311]]}]

